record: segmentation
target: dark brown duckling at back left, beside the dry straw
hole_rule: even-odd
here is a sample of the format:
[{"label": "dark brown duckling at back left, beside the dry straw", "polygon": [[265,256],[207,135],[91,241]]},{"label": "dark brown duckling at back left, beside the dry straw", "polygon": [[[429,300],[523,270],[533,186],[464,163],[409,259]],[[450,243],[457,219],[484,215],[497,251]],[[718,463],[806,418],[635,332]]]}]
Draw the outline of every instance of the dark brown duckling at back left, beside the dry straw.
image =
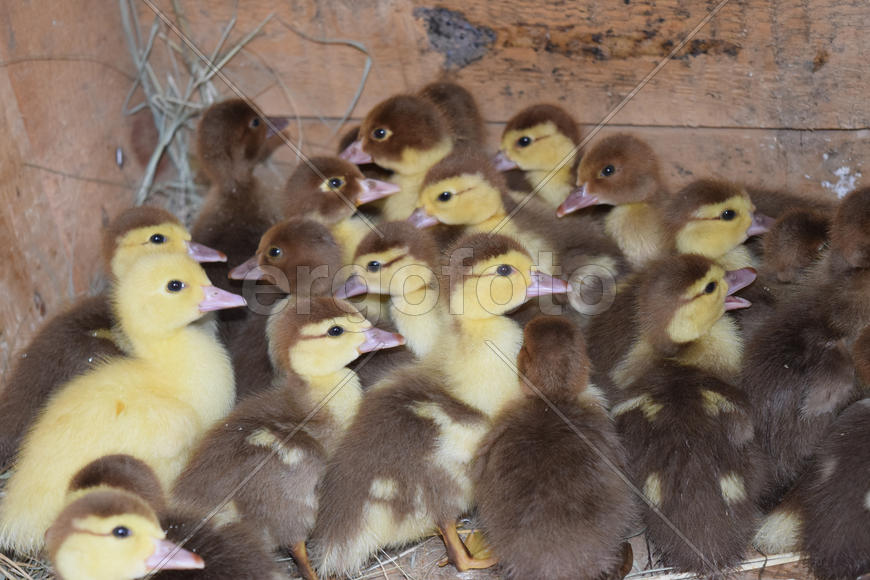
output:
[{"label": "dark brown duckling at back left, beside the dry straw", "polygon": [[212,187],[191,231],[195,239],[226,252],[226,264],[206,268],[223,290],[238,291],[227,272],[256,251],[260,236],[280,217],[274,196],[254,177],[254,169],[280,143],[273,130],[286,125],[285,118],[261,118],[242,99],[215,103],[199,122],[197,156]]}]

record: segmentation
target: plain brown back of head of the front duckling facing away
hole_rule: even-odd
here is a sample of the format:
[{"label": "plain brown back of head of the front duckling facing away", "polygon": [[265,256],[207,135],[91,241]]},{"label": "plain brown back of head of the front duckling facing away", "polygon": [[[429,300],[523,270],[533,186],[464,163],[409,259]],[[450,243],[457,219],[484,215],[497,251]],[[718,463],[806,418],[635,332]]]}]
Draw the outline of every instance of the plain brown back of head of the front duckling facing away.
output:
[{"label": "plain brown back of head of the front duckling facing away", "polygon": [[[583,334],[563,316],[537,316],[523,329],[517,367],[547,398],[576,397],[589,382]],[[537,395],[525,381],[520,385],[527,395]]]}]

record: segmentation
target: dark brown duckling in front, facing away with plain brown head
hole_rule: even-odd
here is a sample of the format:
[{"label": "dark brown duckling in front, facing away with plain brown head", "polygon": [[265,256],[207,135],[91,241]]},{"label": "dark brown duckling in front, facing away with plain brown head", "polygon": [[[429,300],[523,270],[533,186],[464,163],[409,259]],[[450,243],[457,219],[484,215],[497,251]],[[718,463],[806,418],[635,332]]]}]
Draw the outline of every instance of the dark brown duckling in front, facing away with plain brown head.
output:
[{"label": "dark brown duckling in front, facing away with plain brown head", "polygon": [[476,459],[486,537],[506,578],[608,577],[637,508],[583,336],[563,317],[537,317],[518,367],[526,396],[498,415]]}]

